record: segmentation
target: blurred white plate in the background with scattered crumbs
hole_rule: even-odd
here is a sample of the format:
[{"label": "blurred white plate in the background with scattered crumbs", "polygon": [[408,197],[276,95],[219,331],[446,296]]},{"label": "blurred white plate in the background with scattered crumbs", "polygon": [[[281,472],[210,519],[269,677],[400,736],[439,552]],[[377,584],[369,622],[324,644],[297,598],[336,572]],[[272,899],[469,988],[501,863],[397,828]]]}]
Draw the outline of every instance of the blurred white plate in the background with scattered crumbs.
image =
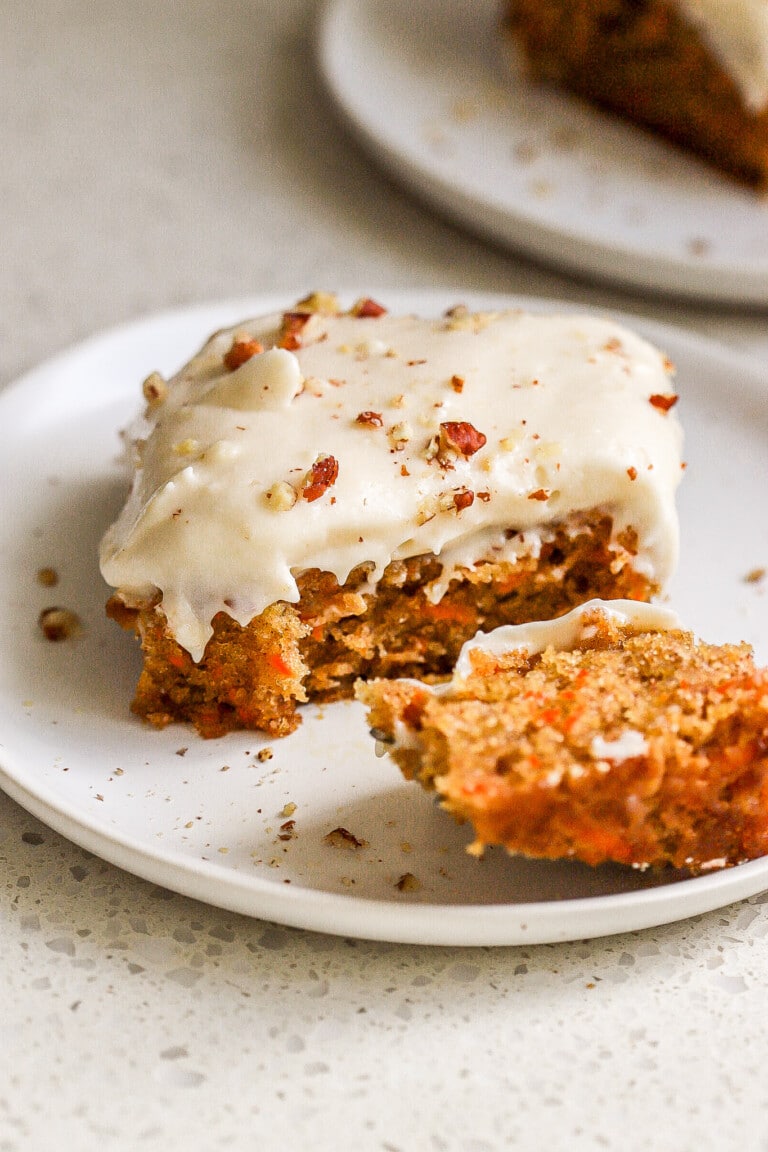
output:
[{"label": "blurred white plate in the background with scattered crumbs", "polygon": [[499,0],[329,0],[318,59],[345,121],[398,181],[558,267],[768,303],[768,203],[568,96],[526,83]]}]

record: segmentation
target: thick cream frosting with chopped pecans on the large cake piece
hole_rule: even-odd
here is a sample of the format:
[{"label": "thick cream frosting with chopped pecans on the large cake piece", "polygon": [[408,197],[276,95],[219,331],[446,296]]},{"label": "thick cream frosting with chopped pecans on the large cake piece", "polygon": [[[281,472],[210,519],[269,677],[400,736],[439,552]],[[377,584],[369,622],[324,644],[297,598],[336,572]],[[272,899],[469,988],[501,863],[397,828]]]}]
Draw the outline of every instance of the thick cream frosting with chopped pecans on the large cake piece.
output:
[{"label": "thick cream frosting with chopped pecans on the large cake piece", "polygon": [[[375,582],[390,560],[425,552],[448,571],[514,559],[592,508],[614,516],[616,535],[637,531],[639,570],[660,583],[671,574],[680,431],[649,402],[672,392],[669,364],[632,332],[517,311],[318,314],[291,353],[269,350],[280,321],[216,334],[150,407],[132,430],[130,498],[101,545],[107,582],[128,602],[160,590],[195,659],[218,612],[246,624],[275,600],[295,602],[309,568],[343,582],[370,562]],[[267,351],[230,372],[235,331]],[[467,455],[444,431],[440,440],[451,422],[484,446]],[[309,500],[325,456],[337,476]],[[509,539],[509,528],[525,535]]]}]

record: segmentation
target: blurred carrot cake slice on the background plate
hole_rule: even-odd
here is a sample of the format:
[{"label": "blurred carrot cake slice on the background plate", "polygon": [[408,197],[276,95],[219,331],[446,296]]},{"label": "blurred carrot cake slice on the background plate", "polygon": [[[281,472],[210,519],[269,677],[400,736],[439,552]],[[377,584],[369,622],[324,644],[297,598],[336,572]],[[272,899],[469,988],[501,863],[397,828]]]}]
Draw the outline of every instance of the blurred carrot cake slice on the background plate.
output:
[{"label": "blurred carrot cake slice on the background plate", "polygon": [[765,0],[508,0],[533,77],[768,187]]}]

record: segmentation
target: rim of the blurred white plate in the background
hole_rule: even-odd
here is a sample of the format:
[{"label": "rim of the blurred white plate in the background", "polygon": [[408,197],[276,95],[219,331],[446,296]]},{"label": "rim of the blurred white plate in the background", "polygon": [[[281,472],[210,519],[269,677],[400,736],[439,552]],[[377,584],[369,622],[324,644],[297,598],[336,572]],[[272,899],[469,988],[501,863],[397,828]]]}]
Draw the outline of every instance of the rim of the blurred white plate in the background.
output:
[{"label": "rim of the blurred white plate in the background", "polygon": [[[552,271],[680,300],[742,304],[758,310],[768,305],[768,259],[753,265],[715,255],[693,262],[659,249],[648,255],[647,245],[631,247],[621,242],[611,245],[583,229],[558,228],[535,214],[511,211],[501,205],[497,197],[486,199],[467,189],[463,181],[442,175],[428,160],[416,160],[406,145],[398,146],[389,132],[360,114],[343,75],[335,67],[336,46],[343,43],[336,23],[349,18],[350,13],[359,22],[375,2],[378,0],[322,0],[314,22],[315,65],[326,92],[352,137],[374,162],[421,203],[426,202],[474,235],[512,249]],[[736,185],[736,192],[739,190]]]}]

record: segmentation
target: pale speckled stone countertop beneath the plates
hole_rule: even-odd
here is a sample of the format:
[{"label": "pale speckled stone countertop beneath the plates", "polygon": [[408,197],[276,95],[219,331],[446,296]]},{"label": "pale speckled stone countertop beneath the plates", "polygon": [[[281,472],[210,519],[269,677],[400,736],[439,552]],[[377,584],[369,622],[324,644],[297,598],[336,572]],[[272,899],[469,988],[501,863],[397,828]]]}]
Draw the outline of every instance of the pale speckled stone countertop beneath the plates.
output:
[{"label": "pale speckled stone countertop beneath the plates", "polygon": [[[385,182],[309,0],[0,14],[0,381],[176,304],[524,291],[768,350],[765,320],[590,288]],[[768,1149],[768,903],[500,949],[335,939],[135,879],[0,796],[0,1152]]]}]

